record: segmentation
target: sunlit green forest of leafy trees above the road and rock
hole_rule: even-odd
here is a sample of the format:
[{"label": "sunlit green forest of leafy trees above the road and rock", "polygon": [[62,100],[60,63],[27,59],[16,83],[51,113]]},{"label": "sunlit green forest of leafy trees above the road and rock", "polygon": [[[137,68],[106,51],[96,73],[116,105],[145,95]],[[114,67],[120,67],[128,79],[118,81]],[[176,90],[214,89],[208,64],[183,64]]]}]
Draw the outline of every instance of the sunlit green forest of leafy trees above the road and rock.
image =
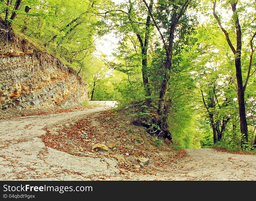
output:
[{"label": "sunlit green forest of leafy trees above the road and rock", "polygon": [[1,0],[0,17],[150,135],[255,152],[256,1]]}]

